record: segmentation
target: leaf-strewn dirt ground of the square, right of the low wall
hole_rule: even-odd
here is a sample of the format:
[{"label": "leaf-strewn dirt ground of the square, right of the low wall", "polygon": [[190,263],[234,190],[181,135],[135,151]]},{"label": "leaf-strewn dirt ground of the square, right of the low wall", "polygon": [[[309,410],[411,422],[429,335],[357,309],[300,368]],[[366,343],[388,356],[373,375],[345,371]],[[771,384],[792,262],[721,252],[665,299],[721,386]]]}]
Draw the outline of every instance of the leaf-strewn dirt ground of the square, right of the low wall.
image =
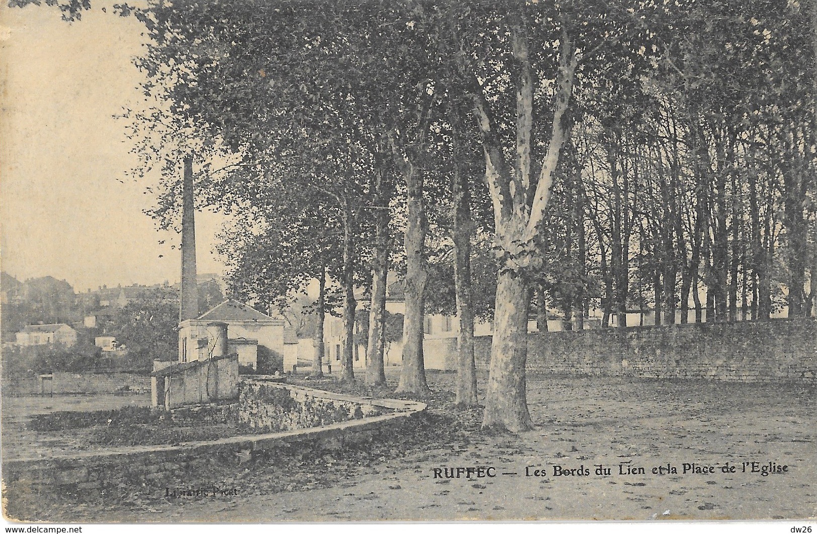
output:
[{"label": "leaf-strewn dirt ground of the square, right of the low wall", "polygon": [[[432,389],[450,390],[453,374],[429,378]],[[480,385],[485,379],[480,375]],[[474,412],[471,420],[439,420],[468,425],[460,434],[438,428],[440,439],[430,434],[417,450],[358,462],[341,476],[330,457],[324,479],[321,469],[296,469],[294,475],[244,469],[231,478],[213,475],[221,487],[232,484],[236,496],[156,497],[138,505],[61,502],[38,518],[254,523],[817,516],[815,387],[532,376],[528,391],[537,427],[522,434],[486,434]],[[435,404],[432,399],[430,407]],[[763,476],[770,462],[781,472]],[[598,465],[609,474],[596,474]],[[556,466],[571,474],[555,476]],[[730,466],[734,472],[724,472]],[[435,469],[458,467],[491,467],[496,476],[444,478],[440,470],[443,476],[435,477]],[[663,473],[667,467],[677,473]],[[275,476],[294,477],[294,483],[270,489]],[[259,482],[265,477],[266,486]],[[158,496],[162,489],[145,492]]]}]

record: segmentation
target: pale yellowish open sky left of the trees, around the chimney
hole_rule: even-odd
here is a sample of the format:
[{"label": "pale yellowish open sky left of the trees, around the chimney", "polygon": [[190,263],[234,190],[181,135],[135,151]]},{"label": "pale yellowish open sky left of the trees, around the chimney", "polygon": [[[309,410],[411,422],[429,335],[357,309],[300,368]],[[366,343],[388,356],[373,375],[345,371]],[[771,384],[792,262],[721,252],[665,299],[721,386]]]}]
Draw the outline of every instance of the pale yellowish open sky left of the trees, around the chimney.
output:
[{"label": "pale yellowish open sky left of the trees, around the chimney", "polygon": [[[176,233],[144,213],[145,189],[114,115],[141,100],[141,24],[108,10],[67,23],[51,7],[0,2],[0,269],[75,291],[180,278]],[[180,169],[181,170],[181,169]],[[121,180],[121,181],[120,181]],[[199,273],[221,273],[221,216],[196,213]],[[160,244],[161,241],[165,243]]]}]

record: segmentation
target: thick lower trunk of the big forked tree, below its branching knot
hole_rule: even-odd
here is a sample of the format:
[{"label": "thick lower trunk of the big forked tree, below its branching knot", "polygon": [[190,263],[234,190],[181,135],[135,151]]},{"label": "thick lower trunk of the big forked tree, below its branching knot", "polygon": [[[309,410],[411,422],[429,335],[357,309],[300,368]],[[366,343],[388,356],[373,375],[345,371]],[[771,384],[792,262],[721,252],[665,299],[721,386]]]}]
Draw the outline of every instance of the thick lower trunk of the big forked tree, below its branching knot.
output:
[{"label": "thick lower trunk of the big forked tree, below its branching knot", "polygon": [[527,287],[509,271],[498,276],[491,367],[483,426],[511,431],[530,429],[525,401],[525,362],[528,358]]}]

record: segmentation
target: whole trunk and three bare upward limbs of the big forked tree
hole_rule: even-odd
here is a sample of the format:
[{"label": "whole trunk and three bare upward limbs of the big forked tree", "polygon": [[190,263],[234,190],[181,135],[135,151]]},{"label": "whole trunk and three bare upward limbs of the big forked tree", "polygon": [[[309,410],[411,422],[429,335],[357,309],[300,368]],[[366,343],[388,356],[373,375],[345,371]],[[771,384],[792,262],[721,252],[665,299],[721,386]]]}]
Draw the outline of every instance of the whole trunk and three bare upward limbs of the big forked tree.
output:
[{"label": "whole trunk and three bare upward limbs of the big forked tree", "polygon": [[[504,132],[493,122],[493,113],[489,111],[480,82],[473,76],[474,111],[484,149],[485,181],[493,202],[496,238],[498,245],[511,257],[520,251],[521,243],[532,243],[541,232],[545,207],[551,195],[553,173],[568,133],[563,122],[569,109],[578,62],[576,48],[563,25],[550,144],[542,159],[538,178],[532,180],[535,84],[528,56],[528,27],[529,22],[522,10],[511,15],[511,44],[516,60],[516,143],[512,165],[508,163],[502,147]],[[498,426],[513,431],[533,426],[525,399],[529,301],[524,275],[525,269],[529,268],[530,265],[516,265],[511,260],[502,265],[498,276],[483,426]]]}]

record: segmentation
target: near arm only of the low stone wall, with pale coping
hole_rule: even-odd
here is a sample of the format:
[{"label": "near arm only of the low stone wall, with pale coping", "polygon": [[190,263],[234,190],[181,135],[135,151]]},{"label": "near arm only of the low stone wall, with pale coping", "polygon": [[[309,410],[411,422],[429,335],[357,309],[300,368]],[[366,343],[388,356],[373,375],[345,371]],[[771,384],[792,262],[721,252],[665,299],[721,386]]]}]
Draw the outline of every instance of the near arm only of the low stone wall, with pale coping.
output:
[{"label": "near arm only of the low stone wall, with pale coping", "polygon": [[[424,405],[422,406],[425,407]],[[299,452],[332,452],[357,443],[369,443],[377,436],[400,432],[408,418],[417,412],[346,421],[326,429],[306,429],[286,434],[224,438],[213,443],[185,443],[181,446],[121,447],[122,452],[106,455],[90,453],[42,458],[28,461],[4,461],[2,482],[9,501],[39,499],[42,494],[106,494],[118,498],[123,488],[139,487],[141,492],[165,496],[178,487],[211,487],[213,473],[225,465],[292,461]],[[125,451],[124,449],[127,449]],[[214,488],[230,491],[234,484]],[[104,493],[103,493],[104,492]],[[18,504],[18,510],[30,506]],[[14,515],[11,509],[7,513]]]}]

